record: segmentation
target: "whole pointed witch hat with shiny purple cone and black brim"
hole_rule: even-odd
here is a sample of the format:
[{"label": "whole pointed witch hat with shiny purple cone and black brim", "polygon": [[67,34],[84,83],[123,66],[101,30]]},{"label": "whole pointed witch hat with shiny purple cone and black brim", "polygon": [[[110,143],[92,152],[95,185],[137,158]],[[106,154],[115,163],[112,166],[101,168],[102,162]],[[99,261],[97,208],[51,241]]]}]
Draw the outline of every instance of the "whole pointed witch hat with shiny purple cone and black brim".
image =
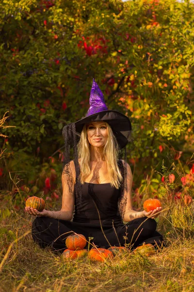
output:
[{"label": "whole pointed witch hat with shiny purple cone and black brim", "polygon": [[[119,111],[108,110],[104,101],[103,93],[94,79],[90,92],[89,103],[90,107],[86,116],[74,124],[78,139],[80,138],[81,131],[85,124],[104,121],[111,126],[120,148],[124,148],[129,142],[131,133],[131,123],[129,118]],[[65,127],[68,127],[68,125]]]}]

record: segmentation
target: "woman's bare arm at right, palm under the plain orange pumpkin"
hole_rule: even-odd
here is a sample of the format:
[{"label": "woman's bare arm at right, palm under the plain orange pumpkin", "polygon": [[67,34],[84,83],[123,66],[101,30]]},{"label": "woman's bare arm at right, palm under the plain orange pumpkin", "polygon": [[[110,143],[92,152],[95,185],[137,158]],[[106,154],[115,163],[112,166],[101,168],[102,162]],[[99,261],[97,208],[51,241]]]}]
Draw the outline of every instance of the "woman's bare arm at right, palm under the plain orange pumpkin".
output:
[{"label": "woman's bare arm at right, palm under the plain orange pumpkin", "polygon": [[[124,162],[123,162],[124,163]],[[127,190],[124,193],[123,199],[121,201],[121,206],[123,206],[122,214],[124,214],[123,220],[129,222],[136,218],[142,217],[157,217],[156,213],[160,212],[162,208],[157,208],[154,211],[146,212],[144,211],[134,211],[132,208],[132,196],[131,196],[131,187],[132,187],[132,172],[129,164],[127,164]],[[127,202],[126,202],[127,201]],[[125,203],[126,202],[126,203]]]}]

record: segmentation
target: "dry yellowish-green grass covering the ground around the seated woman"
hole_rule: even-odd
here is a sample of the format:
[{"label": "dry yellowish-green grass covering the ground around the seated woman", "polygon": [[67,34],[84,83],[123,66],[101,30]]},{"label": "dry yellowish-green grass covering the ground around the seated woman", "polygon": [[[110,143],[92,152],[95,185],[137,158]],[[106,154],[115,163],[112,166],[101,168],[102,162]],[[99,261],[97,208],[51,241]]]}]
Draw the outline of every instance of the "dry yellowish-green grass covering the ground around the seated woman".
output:
[{"label": "dry yellowish-green grass covering the ground around the seated woman", "polygon": [[22,211],[22,216],[12,213],[0,224],[0,292],[194,291],[194,237],[172,225],[177,210],[174,206],[159,220],[167,247],[153,256],[131,252],[106,263],[90,262],[87,257],[67,261],[39,248],[30,233],[24,237],[31,230],[32,219]]}]

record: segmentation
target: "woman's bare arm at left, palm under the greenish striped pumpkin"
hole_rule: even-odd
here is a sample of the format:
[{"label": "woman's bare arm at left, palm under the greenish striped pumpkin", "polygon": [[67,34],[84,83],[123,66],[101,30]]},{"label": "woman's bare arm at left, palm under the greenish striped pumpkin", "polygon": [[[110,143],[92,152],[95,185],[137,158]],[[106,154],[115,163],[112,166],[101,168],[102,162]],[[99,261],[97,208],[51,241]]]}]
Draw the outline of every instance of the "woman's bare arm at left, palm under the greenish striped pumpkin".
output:
[{"label": "woman's bare arm at left, palm under the greenish striped pumpkin", "polygon": [[73,217],[75,203],[75,165],[73,161],[69,163],[69,166],[65,165],[64,167],[62,173],[62,186],[63,197],[60,211],[48,211],[44,209],[42,212],[39,212],[36,209],[26,207],[27,213],[37,217],[49,217],[70,221]]}]

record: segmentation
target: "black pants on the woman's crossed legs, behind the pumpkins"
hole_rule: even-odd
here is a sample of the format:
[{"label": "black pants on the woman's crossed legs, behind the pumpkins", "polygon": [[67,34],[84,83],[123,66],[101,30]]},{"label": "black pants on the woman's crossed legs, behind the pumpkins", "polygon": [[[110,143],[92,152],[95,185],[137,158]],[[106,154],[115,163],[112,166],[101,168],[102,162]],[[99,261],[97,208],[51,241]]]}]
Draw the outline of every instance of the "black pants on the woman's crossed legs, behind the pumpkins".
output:
[{"label": "black pants on the woman's crossed legs, behind the pumpkins", "polygon": [[156,231],[157,223],[146,217],[134,219],[126,225],[113,226],[113,220],[102,221],[101,227],[94,222],[80,223],[66,220],[39,217],[32,224],[32,238],[41,247],[52,247],[63,252],[66,248],[65,239],[74,233],[82,234],[97,247],[124,246],[136,248],[143,242],[156,247],[164,245],[162,235]]}]

